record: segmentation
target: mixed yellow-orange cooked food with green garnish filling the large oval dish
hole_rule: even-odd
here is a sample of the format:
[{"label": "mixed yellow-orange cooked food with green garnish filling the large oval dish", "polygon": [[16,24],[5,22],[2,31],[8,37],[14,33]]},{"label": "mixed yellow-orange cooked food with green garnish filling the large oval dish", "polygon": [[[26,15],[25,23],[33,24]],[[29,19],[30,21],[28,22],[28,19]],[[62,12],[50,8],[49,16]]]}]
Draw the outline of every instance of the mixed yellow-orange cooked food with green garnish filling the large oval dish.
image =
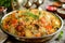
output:
[{"label": "mixed yellow-orange cooked food with green garnish filling the large oval dish", "polygon": [[61,19],[53,13],[39,10],[21,10],[2,19],[2,28],[18,37],[44,37],[61,28]]}]

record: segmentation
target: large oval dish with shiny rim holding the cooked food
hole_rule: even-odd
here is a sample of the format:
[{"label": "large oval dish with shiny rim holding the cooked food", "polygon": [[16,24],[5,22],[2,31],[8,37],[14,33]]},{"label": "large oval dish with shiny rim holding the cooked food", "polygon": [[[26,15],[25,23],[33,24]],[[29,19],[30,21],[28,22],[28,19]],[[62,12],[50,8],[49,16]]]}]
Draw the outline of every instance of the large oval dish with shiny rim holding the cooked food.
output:
[{"label": "large oval dish with shiny rim holding the cooked food", "polygon": [[[38,10],[37,10],[37,11],[38,11]],[[14,12],[17,13],[17,11],[13,11],[13,12],[4,15],[4,16],[2,17],[2,19],[1,19],[1,25],[2,25],[2,20],[3,20],[6,16],[11,15],[11,14],[14,13]],[[43,11],[43,12],[48,13],[47,11]],[[49,14],[50,14],[50,13],[49,13]],[[18,37],[18,35],[14,35],[14,34],[12,34],[12,33],[5,31],[5,30],[2,28],[2,26],[1,26],[1,29],[2,29],[5,33],[14,37],[15,39],[17,39],[17,40],[20,40],[20,41],[25,41],[25,42],[48,42],[48,41],[50,41],[54,35],[56,35],[56,34],[62,30],[62,28],[63,28],[63,19],[62,19],[58,15],[56,15],[56,14],[53,14],[53,13],[51,13],[51,14],[52,14],[52,15],[55,15],[56,17],[58,17],[58,19],[61,20],[61,27],[60,27],[60,29],[56,30],[55,32],[53,32],[53,33],[51,33],[51,34],[47,34],[47,35],[44,35],[44,37],[37,37],[37,38],[36,38],[36,37],[32,37],[32,38],[29,38],[29,37]]]}]

